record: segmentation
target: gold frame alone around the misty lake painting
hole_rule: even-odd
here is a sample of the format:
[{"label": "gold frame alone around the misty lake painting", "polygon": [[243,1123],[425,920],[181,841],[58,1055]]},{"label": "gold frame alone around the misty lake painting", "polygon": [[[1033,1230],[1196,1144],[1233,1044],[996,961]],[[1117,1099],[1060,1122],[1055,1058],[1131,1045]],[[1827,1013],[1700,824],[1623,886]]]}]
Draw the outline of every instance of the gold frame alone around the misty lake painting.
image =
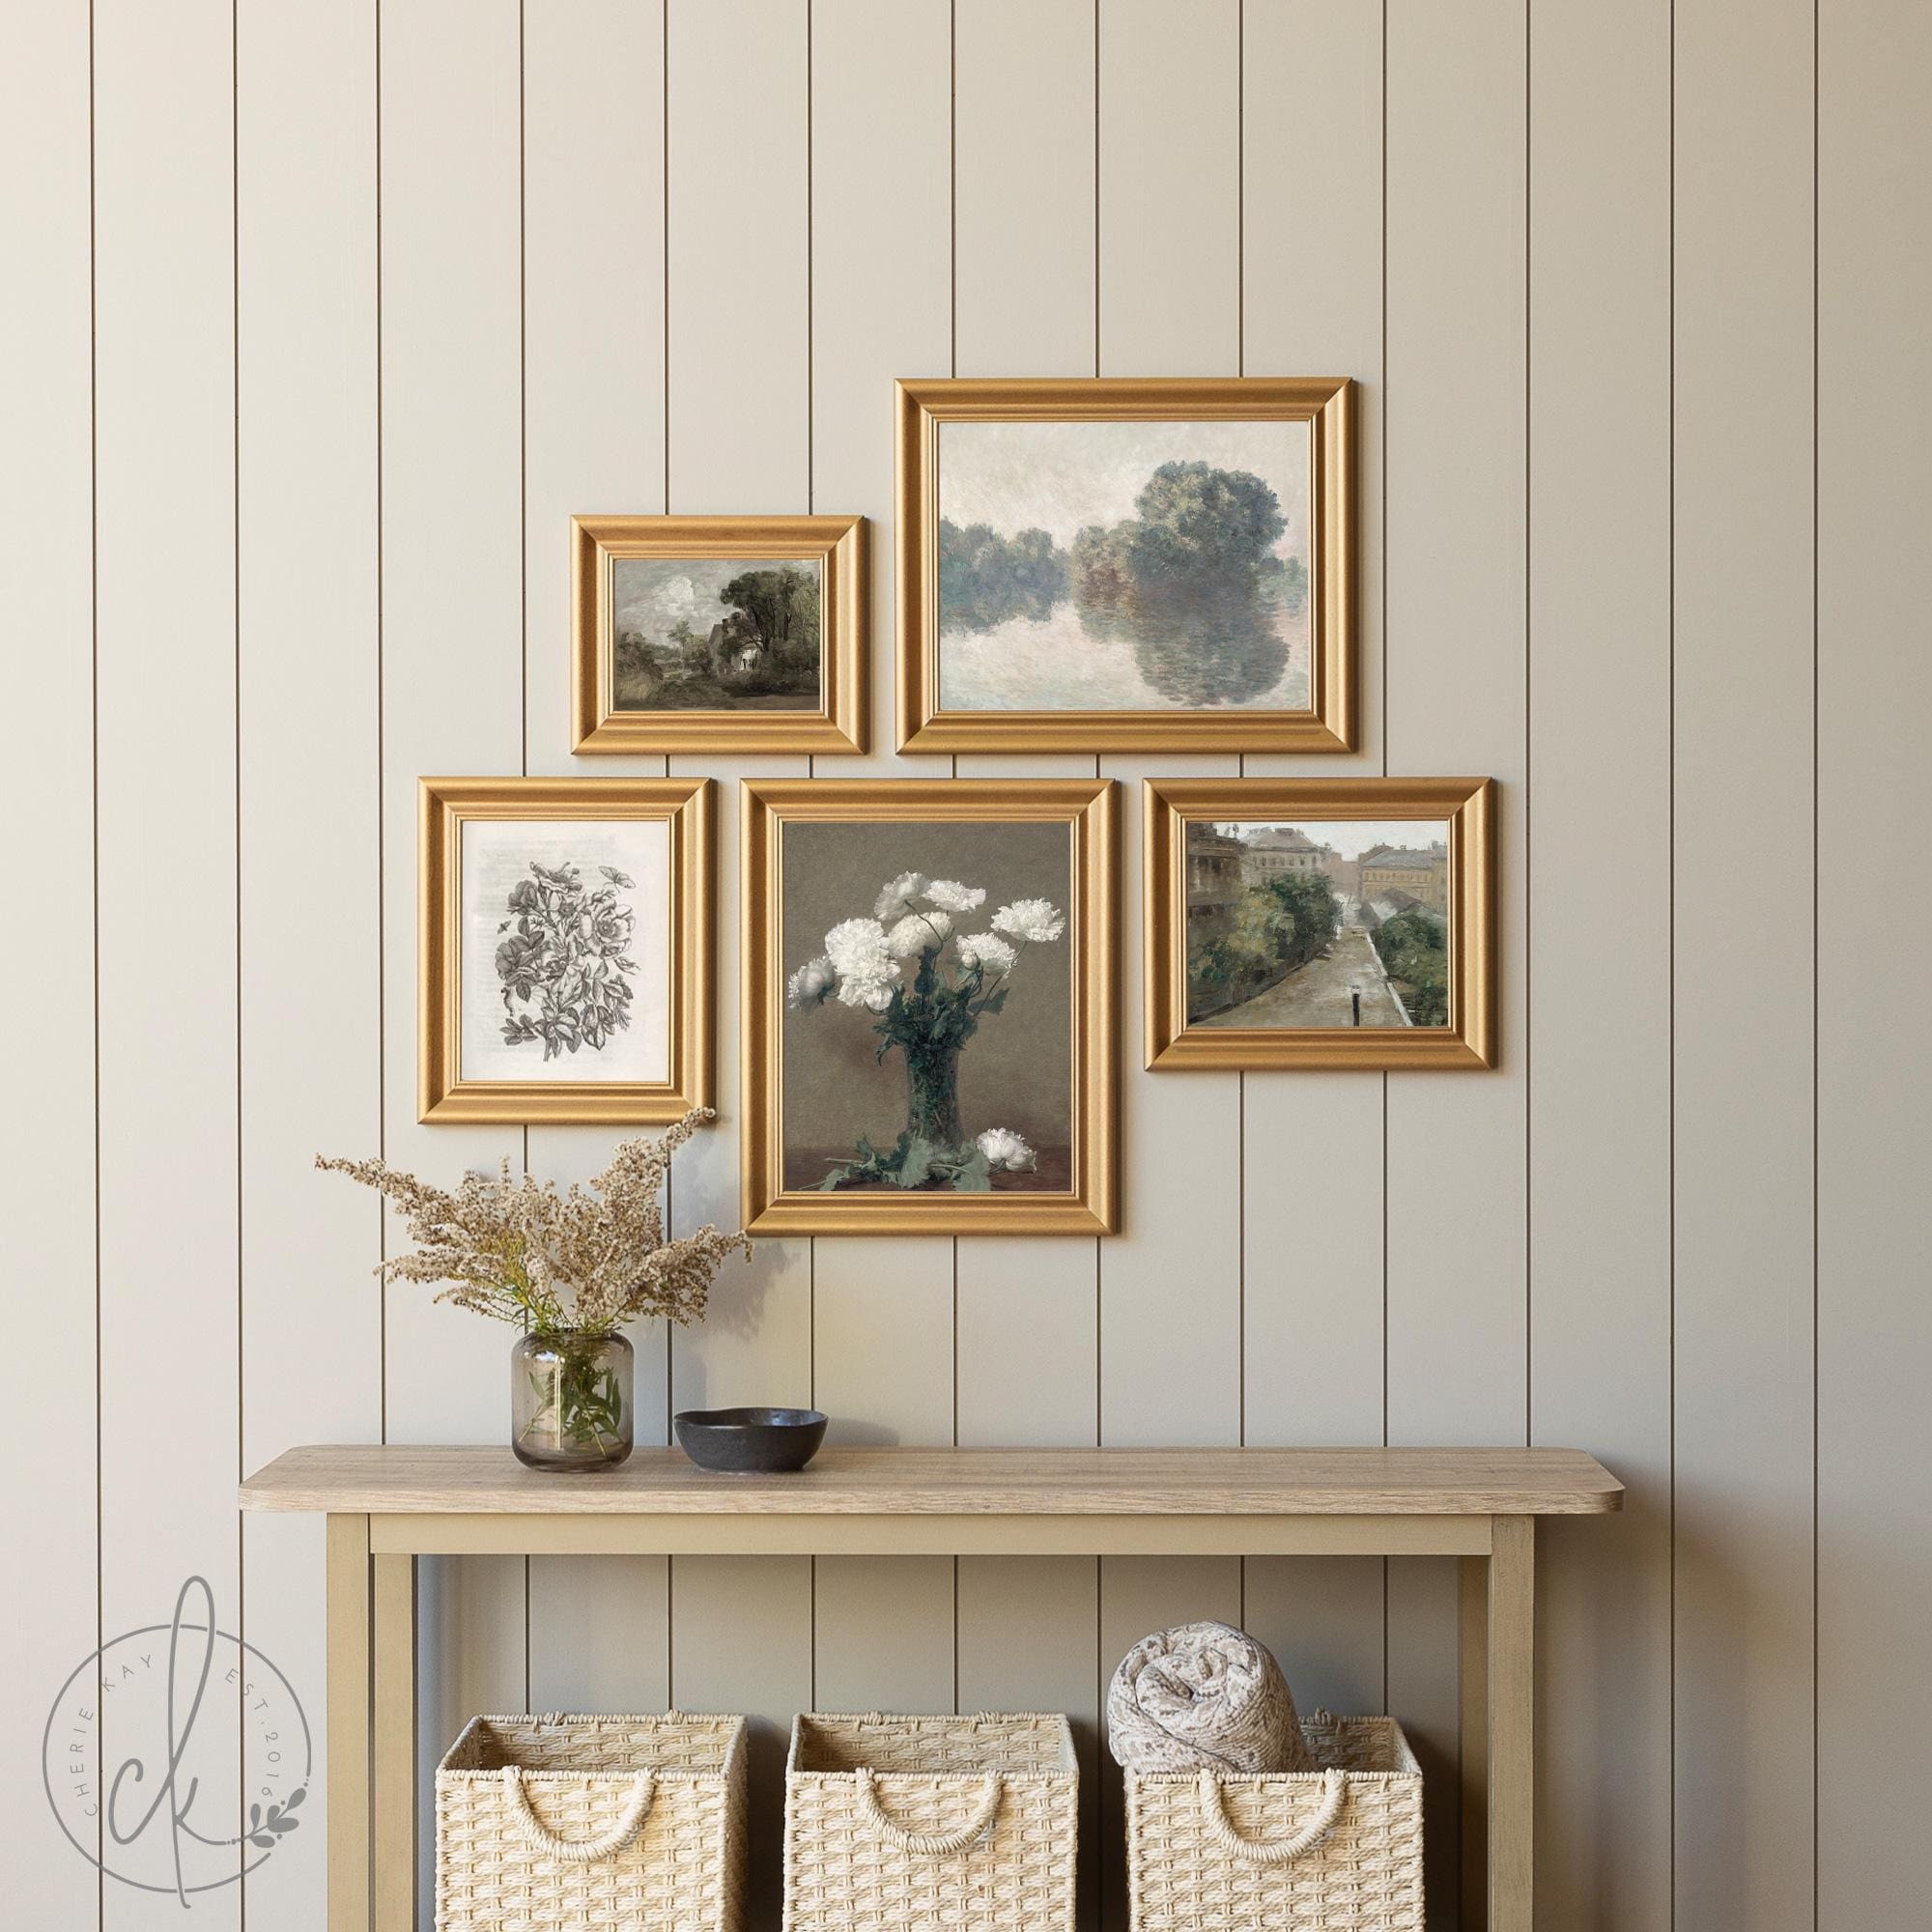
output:
[{"label": "gold frame alone around the misty lake painting", "polygon": [[[945,423],[1310,425],[1306,711],[947,711],[939,703],[939,431]],[[1352,752],[1354,384],[1347,377],[902,381],[896,384],[902,752]]]}]

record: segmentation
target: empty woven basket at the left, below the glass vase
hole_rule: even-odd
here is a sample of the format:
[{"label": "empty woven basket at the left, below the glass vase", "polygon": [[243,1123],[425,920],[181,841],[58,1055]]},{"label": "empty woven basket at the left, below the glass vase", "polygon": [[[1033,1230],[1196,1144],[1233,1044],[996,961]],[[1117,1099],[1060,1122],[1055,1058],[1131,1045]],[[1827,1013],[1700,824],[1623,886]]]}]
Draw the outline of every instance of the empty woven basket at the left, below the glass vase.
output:
[{"label": "empty woven basket at the left, below the glass vase", "polygon": [[740,1932],[744,1756],[744,1718],[471,1718],[437,1932]]}]

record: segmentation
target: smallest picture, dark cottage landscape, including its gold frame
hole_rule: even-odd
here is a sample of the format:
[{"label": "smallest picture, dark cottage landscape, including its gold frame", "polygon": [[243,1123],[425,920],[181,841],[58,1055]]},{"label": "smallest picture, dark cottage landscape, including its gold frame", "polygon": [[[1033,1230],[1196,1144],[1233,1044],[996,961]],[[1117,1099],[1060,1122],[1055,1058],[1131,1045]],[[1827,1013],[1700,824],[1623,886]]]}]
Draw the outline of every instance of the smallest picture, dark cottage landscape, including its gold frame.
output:
[{"label": "smallest picture, dark cottage landscape, including its gold frame", "polygon": [[864,752],[862,516],[576,516],[576,752]]}]

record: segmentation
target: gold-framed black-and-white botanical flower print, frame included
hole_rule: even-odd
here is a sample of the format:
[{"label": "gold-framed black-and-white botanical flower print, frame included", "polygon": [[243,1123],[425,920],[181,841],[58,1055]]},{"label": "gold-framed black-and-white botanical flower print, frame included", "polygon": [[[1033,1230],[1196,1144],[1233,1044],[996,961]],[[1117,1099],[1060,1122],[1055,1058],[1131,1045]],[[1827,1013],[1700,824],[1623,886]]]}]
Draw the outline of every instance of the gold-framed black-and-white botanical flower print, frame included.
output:
[{"label": "gold-framed black-and-white botanical flower print, frame included", "polygon": [[709,779],[423,779],[423,1121],[711,1105]]}]

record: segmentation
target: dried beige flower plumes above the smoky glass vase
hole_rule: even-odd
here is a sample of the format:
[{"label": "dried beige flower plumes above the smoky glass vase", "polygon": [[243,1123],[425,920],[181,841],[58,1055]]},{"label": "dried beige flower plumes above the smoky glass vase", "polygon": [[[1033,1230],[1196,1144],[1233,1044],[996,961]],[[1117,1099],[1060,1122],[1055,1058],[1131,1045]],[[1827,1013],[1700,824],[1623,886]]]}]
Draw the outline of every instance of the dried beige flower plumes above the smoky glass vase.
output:
[{"label": "dried beige flower plumes above the smoky glass vase", "polygon": [[446,1281],[439,1302],[529,1335],[609,1335],[639,1316],[696,1321],[719,1262],[752,1252],[750,1236],[715,1227],[665,1240],[670,1157],[709,1119],[694,1107],[657,1140],[626,1140],[589,1188],[512,1179],[508,1161],[497,1175],[464,1175],[454,1192],[386,1161],[317,1155],[315,1165],[386,1194],[406,1217],[415,1250],[384,1262],[384,1281]]}]

